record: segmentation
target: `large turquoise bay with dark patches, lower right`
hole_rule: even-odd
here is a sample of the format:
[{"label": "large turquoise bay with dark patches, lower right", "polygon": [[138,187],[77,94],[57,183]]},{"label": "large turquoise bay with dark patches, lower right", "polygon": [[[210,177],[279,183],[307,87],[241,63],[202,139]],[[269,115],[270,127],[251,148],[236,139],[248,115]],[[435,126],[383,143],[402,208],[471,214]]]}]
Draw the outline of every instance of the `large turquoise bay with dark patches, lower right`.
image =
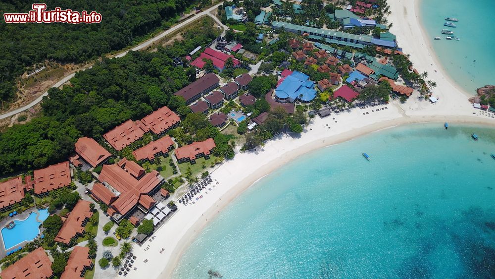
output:
[{"label": "large turquoise bay with dark patches, lower right", "polygon": [[494,129],[439,123],[307,154],[222,211],[173,278],[494,277],[491,153]]}]

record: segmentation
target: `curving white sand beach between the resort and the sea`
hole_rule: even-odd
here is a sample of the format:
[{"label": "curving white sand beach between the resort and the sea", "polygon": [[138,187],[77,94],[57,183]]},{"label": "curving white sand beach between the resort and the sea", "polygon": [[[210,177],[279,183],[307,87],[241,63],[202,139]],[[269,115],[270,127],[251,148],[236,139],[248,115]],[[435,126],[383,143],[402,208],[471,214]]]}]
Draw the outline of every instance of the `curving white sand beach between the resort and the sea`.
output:
[{"label": "curving white sand beach between the resort and the sea", "polygon": [[[408,123],[435,121],[439,122],[439,128],[445,121],[495,126],[495,118],[473,109],[467,101],[468,94],[445,75],[432,55],[419,25],[415,10],[417,2],[389,1],[392,10],[389,22],[394,22],[391,32],[396,34],[404,53],[411,55],[414,67],[419,72],[428,71],[428,79],[437,82],[437,88],[433,89],[434,96],[439,98],[437,104],[419,100],[415,93],[404,104],[393,101],[378,107],[387,107],[385,110],[355,108],[323,119],[316,116],[297,138],[279,136],[257,151],[236,154],[233,160],[211,173],[213,182],[219,182],[215,188],[203,194],[195,205],[178,204],[179,211],[154,233],[154,239],[134,246],[134,254],[138,256],[134,264],[137,270],[131,270],[127,278],[170,278],[182,253],[216,214],[256,180],[304,153]],[[366,112],[369,114],[363,115]]]}]

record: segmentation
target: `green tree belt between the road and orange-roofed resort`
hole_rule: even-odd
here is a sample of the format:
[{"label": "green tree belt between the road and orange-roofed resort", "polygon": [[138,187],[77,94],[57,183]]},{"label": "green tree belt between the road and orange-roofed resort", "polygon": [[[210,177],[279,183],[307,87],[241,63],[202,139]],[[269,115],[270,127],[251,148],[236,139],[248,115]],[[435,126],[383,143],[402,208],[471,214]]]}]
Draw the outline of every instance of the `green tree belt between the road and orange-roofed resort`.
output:
[{"label": "green tree belt between the road and orange-roofed resort", "polygon": [[164,105],[178,111],[185,102],[173,93],[196,75],[194,68],[176,67],[172,59],[216,38],[209,22],[204,18],[202,27],[185,32],[172,46],[103,59],[78,72],[70,86],[51,88],[40,117],[0,134],[0,175],[67,160],[80,136],[102,141],[106,131]]}]

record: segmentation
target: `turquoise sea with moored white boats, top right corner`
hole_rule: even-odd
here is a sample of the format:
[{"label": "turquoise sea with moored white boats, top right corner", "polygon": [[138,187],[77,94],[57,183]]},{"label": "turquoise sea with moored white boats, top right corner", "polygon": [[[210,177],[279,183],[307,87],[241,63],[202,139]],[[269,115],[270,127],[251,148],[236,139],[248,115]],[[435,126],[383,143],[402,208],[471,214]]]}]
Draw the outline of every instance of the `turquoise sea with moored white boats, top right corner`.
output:
[{"label": "turquoise sea with moored white boats, top right corner", "polygon": [[[495,84],[494,0],[421,0],[420,18],[437,56],[452,79],[476,95],[476,89]],[[447,16],[456,17],[457,27],[444,26]],[[442,29],[454,31],[460,41],[449,41]],[[442,40],[434,41],[439,36]],[[407,46],[405,46],[407,48]]]}]

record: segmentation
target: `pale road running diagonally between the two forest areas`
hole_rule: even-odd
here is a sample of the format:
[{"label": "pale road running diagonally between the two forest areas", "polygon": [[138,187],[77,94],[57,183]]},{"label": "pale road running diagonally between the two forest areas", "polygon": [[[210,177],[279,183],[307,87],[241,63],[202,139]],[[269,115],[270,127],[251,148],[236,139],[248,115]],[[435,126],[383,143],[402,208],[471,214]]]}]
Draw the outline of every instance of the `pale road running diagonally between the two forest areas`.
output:
[{"label": "pale road running diagonally between the two forest areas", "polygon": [[[156,41],[159,41],[160,39],[162,39],[163,37],[167,36],[168,34],[170,33],[173,33],[175,31],[177,31],[178,29],[182,28],[184,25],[187,25],[195,20],[197,20],[199,17],[203,16],[203,15],[208,15],[208,16],[211,16],[217,23],[219,23],[220,25],[222,25],[224,28],[228,28],[227,26],[223,25],[220,20],[218,20],[218,18],[214,17],[210,11],[213,11],[214,9],[218,9],[218,6],[223,4],[223,2],[220,2],[219,4],[216,4],[214,6],[212,6],[211,8],[207,9],[207,10],[204,10],[192,17],[190,17],[189,19],[175,25],[175,26],[172,26],[170,29],[168,30],[165,30],[163,31],[162,33],[156,35],[155,37],[149,39],[148,41],[145,41],[139,45],[137,45],[136,47],[132,48],[131,50],[127,50],[123,53],[120,53],[118,55],[116,55],[115,57],[122,57],[122,56],[125,56],[129,51],[139,51],[139,50],[142,50],[144,48],[147,48],[148,46],[150,46],[151,44],[153,44],[154,42]],[[88,67],[90,68],[90,67]],[[82,69],[82,70],[85,70],[85,69]],[[74,74],[70,74],[70,75],[67,75],[65,77],[63,77],[61,80],[59,80],[57,83],[55,83],[52,87],[59,87],[61,86],[62,84],[66,83],[67,81],[69,81],[69,79],[71,79],[72,77],[74,77]],[[34,100],[33,102],[31,102],[29,105],[26,105],[22,108],[19,108],[17,110],[14,110],[14,111],[11,111],[11,112],[6,112],[6,113],[3,113],[3,114],[0,114],[0,119],[3,119],[3,118],[7,118],[7,117],[10,117],[10,116],[13,116],[19,112],[24,112],[24,111],[27,111],[29,109],[31,109],[32,107],[34,107],[36,104],[40,103],[42,100],[43,100],[43,97],[45,96],[48,96],[48,91],[43,93],[43,95],[41,95],[40,97],[36,98],[36,100]]]}]

